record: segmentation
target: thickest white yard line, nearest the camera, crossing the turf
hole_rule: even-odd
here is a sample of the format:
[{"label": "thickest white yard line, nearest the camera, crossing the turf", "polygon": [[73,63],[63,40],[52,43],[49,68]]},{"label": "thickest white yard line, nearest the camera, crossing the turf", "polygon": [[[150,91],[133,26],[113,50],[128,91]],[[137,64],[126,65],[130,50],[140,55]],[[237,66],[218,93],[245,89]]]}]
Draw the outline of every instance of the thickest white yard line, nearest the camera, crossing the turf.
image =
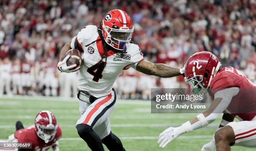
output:
[{"label": "thickest white yard line, nearest the camera, crossing the turf", "polygon": [[[202,138],[212,138],[212,135],[194,135],[194,136],[179,136],[177,139],[202,139]],[[150,139],[158,139],[158,136],[123,136],[119,137],[121,140],[150,140]],[[6,139],[3,139],[6,140]],[[61,138],[59,141],[83,141],[82,138],[79,137],[71,137],[71,138]]]}]

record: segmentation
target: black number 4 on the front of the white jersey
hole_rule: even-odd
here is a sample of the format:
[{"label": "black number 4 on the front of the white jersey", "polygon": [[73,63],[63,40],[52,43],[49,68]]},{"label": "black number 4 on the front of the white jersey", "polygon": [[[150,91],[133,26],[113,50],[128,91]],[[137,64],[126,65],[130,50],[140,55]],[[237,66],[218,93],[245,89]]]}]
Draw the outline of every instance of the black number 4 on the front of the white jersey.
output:
[{"label": "black number 4 on the front of the white jersey", "polygon": [[99,79],[102,78],[102,72],[106,64],[107,64],[106,62],[100,60],[99,62],[97,62],[97,64],[87,69],[87,72],[93,75],[93,78],[92,78],[93,81],[99,82]]}]

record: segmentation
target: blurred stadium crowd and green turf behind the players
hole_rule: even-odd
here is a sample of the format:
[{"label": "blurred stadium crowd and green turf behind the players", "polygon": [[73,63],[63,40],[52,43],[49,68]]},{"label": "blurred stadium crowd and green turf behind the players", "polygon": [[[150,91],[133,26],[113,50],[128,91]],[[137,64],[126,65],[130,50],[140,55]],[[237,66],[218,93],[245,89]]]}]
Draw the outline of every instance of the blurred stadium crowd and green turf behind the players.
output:
[{"label": "blurred stadium crowd and green turf behind the players", "polygon": [[[210,51],[223,66],[240,69],[256,83],[255,0],[0,0],[0,139],[14,132],[15,120],[29,126],[39,110],[47,109],[63,129],[61,150],[86,148],[74,128],[77,100],[69,99],[76,96],[78,73],[60,73],[56,64],[62,46],[82,27],[98,25],[116,8],[131,15],[133,41],[146,60],[182,67],[191,54]],[[194,115],[150,114],[148,101],[134,99],[148,100],[150,88],[187,87],[183,78],[162,79],[129,69],[114,87],[119,99],[133,99],[120,100],[110,117],[112,131],[128,151],[185,151],[187,145],[200,150],[218,127],[216,121],[160,149],[159,133]],[[240,150],[247,151],[236,148]]]}]

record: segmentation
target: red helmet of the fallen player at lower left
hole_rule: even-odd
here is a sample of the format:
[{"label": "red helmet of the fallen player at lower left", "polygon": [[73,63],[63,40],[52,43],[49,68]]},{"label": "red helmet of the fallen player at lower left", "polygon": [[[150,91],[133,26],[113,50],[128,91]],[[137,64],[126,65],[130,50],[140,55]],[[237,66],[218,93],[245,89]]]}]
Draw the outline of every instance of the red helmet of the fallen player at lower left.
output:
[{"label": "red helmet of the fallen player at lower left", "polygon": [[57,132],[57,121],[55,116],[48,110],[43,110],[36,115],[35,131],[39,138],[45,143],[52,141]]}]

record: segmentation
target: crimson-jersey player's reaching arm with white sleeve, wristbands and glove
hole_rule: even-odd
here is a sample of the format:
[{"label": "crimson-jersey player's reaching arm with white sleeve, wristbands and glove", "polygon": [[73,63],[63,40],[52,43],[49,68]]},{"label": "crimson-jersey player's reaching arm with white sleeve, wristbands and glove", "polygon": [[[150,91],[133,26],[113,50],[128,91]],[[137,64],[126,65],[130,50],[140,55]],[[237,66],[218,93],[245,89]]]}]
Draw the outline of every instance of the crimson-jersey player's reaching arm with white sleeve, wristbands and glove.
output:
[{"label": "crimson-jersey player's reaching arm with white sleeve, wristbands and glove", "polygon": [[187,121],[177,128],[170,127],[164,130],[159,135],[159,147],[164,148],[168,143],[179,137],[181,134],[192,132],[212,123],[221,113],[223,113],[230,104],[232,97],[237,95],[238,92],[239,88],[237,87],[227,88],[216,92],[214,95],[215,99],[210,105],[210,108],[204,113],[197,115],[194,120]]}]

